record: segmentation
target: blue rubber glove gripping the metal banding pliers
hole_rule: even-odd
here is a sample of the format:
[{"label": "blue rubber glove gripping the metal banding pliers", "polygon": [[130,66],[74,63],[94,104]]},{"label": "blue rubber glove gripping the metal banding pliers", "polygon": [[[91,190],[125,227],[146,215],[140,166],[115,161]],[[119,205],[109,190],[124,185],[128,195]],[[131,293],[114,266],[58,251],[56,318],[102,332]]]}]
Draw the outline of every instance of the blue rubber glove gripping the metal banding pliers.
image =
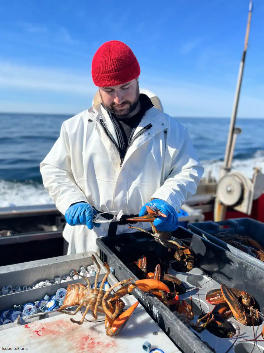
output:
[{"label": "blue rubber glove gripping the metal banding pliers", "polygon": [[67,209],[65,219],[73,227],[84,225],[88,229],[93,229],[93,227],[99,228],[100,223],[93,222],[94,215],[97,215],[97,212],[91,205],[86,202],[77,202]]}]

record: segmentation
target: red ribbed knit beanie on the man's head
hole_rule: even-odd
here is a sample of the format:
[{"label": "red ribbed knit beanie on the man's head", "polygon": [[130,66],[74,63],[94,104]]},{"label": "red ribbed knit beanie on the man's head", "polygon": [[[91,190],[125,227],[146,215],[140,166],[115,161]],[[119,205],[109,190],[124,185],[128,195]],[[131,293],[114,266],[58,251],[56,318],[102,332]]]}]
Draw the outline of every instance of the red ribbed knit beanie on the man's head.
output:
[{"label": "red ribbed knit beanie on the man's head", "polygon": [[92,61],[92,78],[98,87],[117,86],[140,75],[140,67],[132,50],[119,41],[101,45]]}]

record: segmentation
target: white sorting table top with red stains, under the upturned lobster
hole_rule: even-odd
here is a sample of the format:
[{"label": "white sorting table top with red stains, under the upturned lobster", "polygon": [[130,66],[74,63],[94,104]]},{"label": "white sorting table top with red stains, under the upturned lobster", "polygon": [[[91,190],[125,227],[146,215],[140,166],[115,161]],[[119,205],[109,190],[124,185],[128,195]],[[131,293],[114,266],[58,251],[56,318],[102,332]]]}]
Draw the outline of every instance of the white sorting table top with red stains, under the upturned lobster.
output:
[{"label": "white sorting table top with red stains, under the upturned lobster", "polygon": [[[132,295],[122,299],[126,308],[137,301]],[[16,347],[24,347],[27,349],[23,351],[29,353],[144,353],[142,345],[147,341],[151,343],[151,349],[159,348],[164,353],[180,352],[140,304],[115,337],[106,336],[104,322],[84,320],[82,325],[78,325],[70,321],[71,317],[80,320],[81,313],[75,316],[57,313],[25,325],[6,324],[5,329],[2,326],[0,330],[0,350],[7,352],[5,348],[9,347],[13,352]],[[90,310],[86,318],[93,321]],[[98,320],[103,319],[104,315],[99,314]]]}]

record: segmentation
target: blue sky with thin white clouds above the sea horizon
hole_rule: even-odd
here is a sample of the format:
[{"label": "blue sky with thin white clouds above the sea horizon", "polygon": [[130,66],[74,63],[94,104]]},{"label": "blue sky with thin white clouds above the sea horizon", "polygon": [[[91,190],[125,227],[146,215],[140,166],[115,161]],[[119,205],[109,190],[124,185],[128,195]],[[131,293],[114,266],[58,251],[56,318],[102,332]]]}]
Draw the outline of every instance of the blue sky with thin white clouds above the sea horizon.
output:
[{"label": "blue sky with thin white clouds above the sea horizon", "polygon": [[[253,1],[239,117],[264,118],[264,2]],[[8,0],[0,7],[0,111],[77,114],[97,90],[99,46],[120,40],[140,87],[174,116],[229,117],[248,0]]]}]

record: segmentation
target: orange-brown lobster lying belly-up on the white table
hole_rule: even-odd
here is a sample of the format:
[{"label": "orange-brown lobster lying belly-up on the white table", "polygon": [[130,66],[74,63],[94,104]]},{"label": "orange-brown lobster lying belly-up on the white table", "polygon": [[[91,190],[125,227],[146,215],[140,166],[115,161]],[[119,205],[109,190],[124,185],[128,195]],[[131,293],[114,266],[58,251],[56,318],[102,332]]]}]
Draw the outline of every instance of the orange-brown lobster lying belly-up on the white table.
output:
[{"label": "orange-brown lobster lying belly-up on the white table", "polygon": [[[133,289],[137,287],[144,292],[151,292],[152,290],[169,291],[169,288],[164,283],[156,280],[145,279],[138,280],[133,283],[131,280],[133,280],[134,277],[122,280],[105,291],[103,290],[103,287],[105,285],[107,276],[111,272],[109,265],[106,262],[104,263],[107,271],[103,277],[100,288],[98,288],[97,282],[101,268],[94,255],[92,255],[92,259],[98,268],[95,276],[94,288],[91,288],[88,278],[79,275],[87,281],[87,286],[84,286],[82,283],[69,284],[67,287],[67,293],[65,294],[63,300],[63,304],[57,310],[68,315],[76,315],[76,313],[81,310],[81,307],[85,307],[86,309],[80,321],[76,321],[73,318],[70,319],[73,323],[81,325],[84,322],[84,318],[89,309],[92,311],[94,320],[98,318],[97,312],[105,313],[106,335],[109,337],[114,337],[122,330],[122,328],[124,328],[126,322],[138,306],[137,301],[135,304],[124,311],[123,309],[125,307],[125,303],[121,299],[122,297],[128,293],[131,293]],[[75,272],[75,274],[77,273]],[[122,285],[122,287],[119,288],[114,294],[111,294],[111,291],[120,285]],[[75,305],[78,305],[75,311],[65,310],[67,307]]]}]

